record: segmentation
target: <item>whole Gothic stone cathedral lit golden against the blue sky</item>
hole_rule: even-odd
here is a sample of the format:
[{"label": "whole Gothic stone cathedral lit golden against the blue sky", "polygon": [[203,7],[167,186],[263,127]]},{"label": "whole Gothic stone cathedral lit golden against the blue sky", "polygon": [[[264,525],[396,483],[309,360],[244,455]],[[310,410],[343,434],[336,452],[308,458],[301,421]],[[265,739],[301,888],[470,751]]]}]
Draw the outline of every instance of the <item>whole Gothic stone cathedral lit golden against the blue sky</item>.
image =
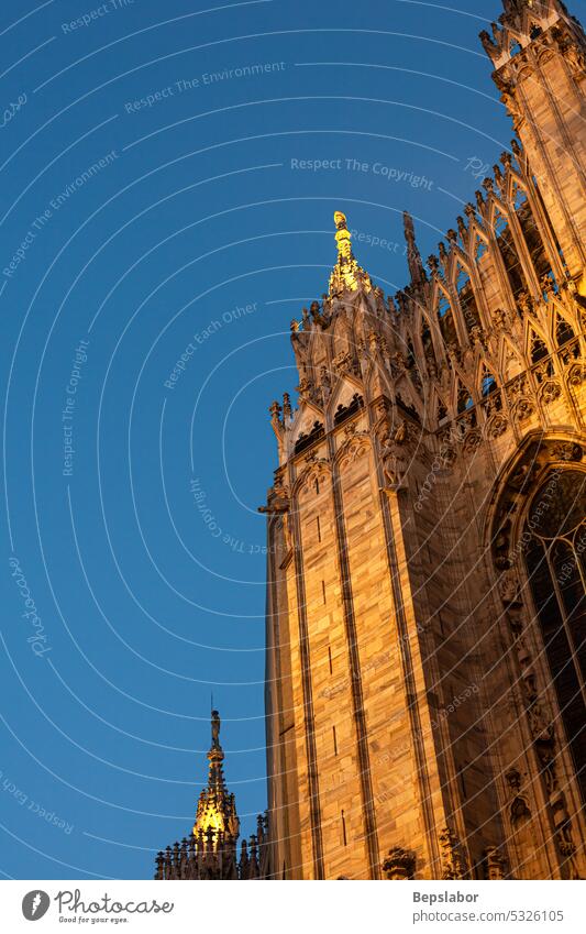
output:
[{"label": "whole Gothic stone cathedral lit golden against the blue sky", "polygon": [[267,816],[236,858],[212,718],[156,878],[586,878],[586,37],[560,0],[504,7],[480,40],[510,151],[427,262],[405,215],[394,297],[336,211],[291,322]]}]

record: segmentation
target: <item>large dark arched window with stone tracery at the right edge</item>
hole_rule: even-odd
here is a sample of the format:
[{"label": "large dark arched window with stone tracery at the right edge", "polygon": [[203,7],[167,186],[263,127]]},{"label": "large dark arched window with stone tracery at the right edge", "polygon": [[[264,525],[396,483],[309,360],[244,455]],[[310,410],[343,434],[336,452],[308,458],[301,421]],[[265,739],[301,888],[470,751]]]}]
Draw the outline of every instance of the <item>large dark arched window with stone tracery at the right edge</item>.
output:
[{"label": "large dark arched window with stone tracery at the right edge", "polygon": [[526,530],[529,584],[586,802],[586,473],[551,473],[533,496]]}]

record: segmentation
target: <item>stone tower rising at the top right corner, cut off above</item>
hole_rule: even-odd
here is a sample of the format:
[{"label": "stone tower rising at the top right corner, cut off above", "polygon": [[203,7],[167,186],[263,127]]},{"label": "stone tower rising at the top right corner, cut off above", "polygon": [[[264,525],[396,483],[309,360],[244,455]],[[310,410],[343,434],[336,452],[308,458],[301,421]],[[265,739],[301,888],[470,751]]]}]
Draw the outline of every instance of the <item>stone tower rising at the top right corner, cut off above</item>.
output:
[{"label": "stone tower rising at the top right corner, cut off above", "polygon": [[480,33],[513,127],[531,162],[555,245],[584,266],[584,33],[559,0],[505,0],[493,37]]}]

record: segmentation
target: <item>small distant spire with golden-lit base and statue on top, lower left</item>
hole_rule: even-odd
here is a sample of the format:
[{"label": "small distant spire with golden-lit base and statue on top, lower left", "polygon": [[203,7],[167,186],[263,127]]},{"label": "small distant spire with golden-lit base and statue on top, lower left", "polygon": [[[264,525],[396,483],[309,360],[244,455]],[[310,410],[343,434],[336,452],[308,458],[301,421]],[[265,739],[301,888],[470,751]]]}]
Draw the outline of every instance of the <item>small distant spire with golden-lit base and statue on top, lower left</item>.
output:
[{"label": "small distant spire with golden-lit base and statue on top, lower left", "polygon": [[233,837],[235,840],[240,834],[240,821],[236,814],[234,795],[230,794],[225,787],[222,762],[224,750],[220,746],[220,714],[211,712],[211,746],[208,752],[209,772],[208,784],[199,795],[194,834],[200,832],[213,833]]}]

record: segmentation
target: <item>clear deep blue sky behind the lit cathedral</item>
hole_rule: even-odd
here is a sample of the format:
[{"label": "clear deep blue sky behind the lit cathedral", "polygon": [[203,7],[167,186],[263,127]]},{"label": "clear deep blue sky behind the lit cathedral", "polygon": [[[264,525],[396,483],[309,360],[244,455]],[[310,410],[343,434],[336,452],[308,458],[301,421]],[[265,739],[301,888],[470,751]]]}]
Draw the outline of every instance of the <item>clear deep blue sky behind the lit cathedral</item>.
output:
[{"label": "clear deep blue sky behind the lit cathedral", "polygon": [[477,39],[500,11],[2,3],[5,876],[152,875],[194,820],[211,692],[253,832],[289,323],[327,288],[334,209],[389,293],[402,210],[423,257],[455,226],[469,161],[512,135]]}]

